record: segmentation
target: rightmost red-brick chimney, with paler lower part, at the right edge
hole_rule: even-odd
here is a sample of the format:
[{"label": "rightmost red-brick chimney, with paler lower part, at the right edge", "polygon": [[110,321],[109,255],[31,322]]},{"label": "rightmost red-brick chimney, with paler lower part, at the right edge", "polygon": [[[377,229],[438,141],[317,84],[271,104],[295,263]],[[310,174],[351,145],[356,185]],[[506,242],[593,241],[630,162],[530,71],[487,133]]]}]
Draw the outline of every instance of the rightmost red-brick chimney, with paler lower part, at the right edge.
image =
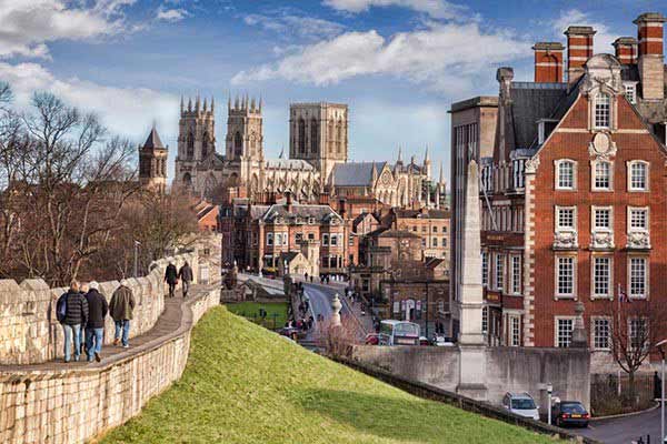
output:
[{"label": "rightmost red-brick chimney, with paler lower part, at the right edge", "polygon": [[663,54],[663,23],[659,12],[645,12],[634,21],[639,41],[639,79],[644,100],[665,98],[665,69]]}]

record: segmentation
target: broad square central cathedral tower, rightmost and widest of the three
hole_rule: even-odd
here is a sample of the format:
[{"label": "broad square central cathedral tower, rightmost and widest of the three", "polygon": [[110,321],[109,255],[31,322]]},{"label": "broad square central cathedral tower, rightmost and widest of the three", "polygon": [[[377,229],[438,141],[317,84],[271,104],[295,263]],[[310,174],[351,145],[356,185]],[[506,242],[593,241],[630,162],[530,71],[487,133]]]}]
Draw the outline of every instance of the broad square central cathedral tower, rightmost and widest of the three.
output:
[{"label": "broad square central cathedral tower, rightmost and widest of the three", "polygon": [[326,183],[334,165],[348,159],[347,104],[290,104],[289,155],[311,163]]}]

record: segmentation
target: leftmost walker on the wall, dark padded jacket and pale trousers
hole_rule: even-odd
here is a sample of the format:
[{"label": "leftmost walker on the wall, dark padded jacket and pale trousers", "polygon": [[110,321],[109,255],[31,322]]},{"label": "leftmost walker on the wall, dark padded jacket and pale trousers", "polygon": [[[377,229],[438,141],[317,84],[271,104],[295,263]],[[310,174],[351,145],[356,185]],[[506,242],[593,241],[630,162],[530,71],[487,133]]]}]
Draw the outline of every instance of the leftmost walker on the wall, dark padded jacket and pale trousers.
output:
[{"label": "leftmost walker on the wall, dark padded jacket and pale trousers", "polygon": [[67,293],[56,304],[56,314],[64,334],[64,362],[70,362],[72,342],[74,361],[81,356],[81,326],[88,322],[88,301],[81,294],[79,282],[72,281]]}]

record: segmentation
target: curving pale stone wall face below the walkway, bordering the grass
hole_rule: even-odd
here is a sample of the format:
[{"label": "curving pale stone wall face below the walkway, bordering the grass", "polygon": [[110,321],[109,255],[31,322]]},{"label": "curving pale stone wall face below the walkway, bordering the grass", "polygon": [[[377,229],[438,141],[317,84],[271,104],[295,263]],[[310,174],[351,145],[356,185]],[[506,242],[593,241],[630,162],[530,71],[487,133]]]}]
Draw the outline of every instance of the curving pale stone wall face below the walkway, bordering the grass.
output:
[{"label": "curving pale stone wall face below the walkway, bordering the grass", "polygon": [[139,414],[181,376],[192,325],[219,299],[219,289],[213,289],[189,300],[177,330],[125,357],[79,369],[2,372],[0,367],[0,442],[83,443]]}]

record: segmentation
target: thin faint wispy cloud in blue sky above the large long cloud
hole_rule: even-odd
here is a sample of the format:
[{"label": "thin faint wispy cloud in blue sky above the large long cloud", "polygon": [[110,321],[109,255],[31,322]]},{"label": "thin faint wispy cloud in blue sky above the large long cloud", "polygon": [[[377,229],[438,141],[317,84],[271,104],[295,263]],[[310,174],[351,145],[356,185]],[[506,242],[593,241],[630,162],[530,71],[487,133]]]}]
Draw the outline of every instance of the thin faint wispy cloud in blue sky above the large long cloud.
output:
[{"label": "thin faint wispy cloud in blue sky above the large long cloud", "polygon": [[286,12],[273,16],[248,14],[243,17],[243,22],[279,34],[306,39],[331,38],[345,30],[342,24],[334,21]]}]

